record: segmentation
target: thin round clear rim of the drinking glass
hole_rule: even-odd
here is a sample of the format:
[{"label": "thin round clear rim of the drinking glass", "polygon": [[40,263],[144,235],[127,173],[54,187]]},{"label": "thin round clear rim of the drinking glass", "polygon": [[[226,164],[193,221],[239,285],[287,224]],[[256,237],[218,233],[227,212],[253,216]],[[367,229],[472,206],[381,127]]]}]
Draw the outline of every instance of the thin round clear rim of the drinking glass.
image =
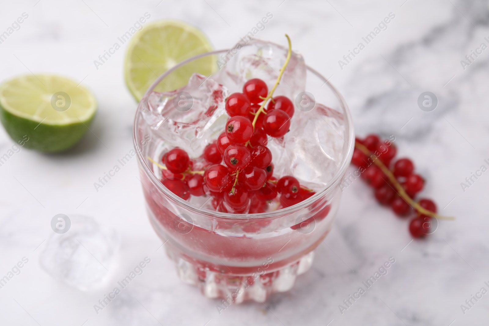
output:
[{"label": "thin round clear rim of the drinking glass", "polygon": [[[265,42],[272,43],[272,42],[268,42],[268,41],[265,41]],[[275,43],[273,43],[273,44],[275,44]],[[275,45],[278,45],[278,46],[285,49],[285,47],[283,47],[282,45],[279,45],[279,44],[275,44]],[[244,46],[246,46],[246,45],[244,45]],[[160,182],[160,180],[158,180],[158,178],[156,178],[156,175],[153,173],[153,170],[146,163],[146,160],[143,157],[141,151],[137,150],[138,145],[137,145],[136,127],[138,126],[138,121],[141,117],[141,110],[142,110],[141,103],[147,101],[149,95],[153,92],[155,87],[166,76],[171,74],[173,71],[175,71],[176,69],[178,69],[182,65],[186,65],[187,63],[189,63],[191,61],[194,61],[194,60],[197,60],[197,59],[209,56],[209,55],[217,55],[217,54],[221,54],[221,53],[226,53],[226,52],[229,52],[231,50],[232,50],[232,48],[215,50],[215,51],[211,51],[211,52],[201,53],[201,54],[198,54],[198,55],[193,56],[191,58],[188,58],[188,59],[180,62],[178,65],[175,65],[172,68],[168,69],[163,74],[161,74],[155,80],[155,82],[146,90],[143,97],[141,98],[141,101],[139,101],[139,103],[137,105],[137,109],[136,109],[136,112],[134,115],[134,122],[133,122],[133,146],[136,149],[136,154],[137,154],[139,164],[143,167],[144,172],[148,175],[149,179],[153,182],[153,184],[156,186],[156,188],[158,188],[166,196],[171,197],[179,205],[184,206],[189,211],[195,212],[197,214],[205,214],[205,215],[209,215],[210,217],[214,217],[214,218],[227,218],[227,219],[260,219],[260,218],[275,218],[275,217],[280,217],[283,215],[289,215],[293,212],[296,212],[296,211],[303,209],[306,206],[311,205],[313,202],[315,202],[320,197],[325,196],[329,191],[331,191],[341,181],[342,175],[345,173],[346,169],[350,165],[351,157],[352,157],[353,151],[354,151],[354,144],[355,144],[355,132],[354,132],[354,128],[353,128],[352,115],[351,115],[350,109],[348,108],[348,105],[346,104],[345,99],[340,94],[340,92],[338,92],[336,87],[334,87],[330,83],[330,81],[328,79],[326,79],[324,76],[322,76],[317,70],[311,68],[309,65],[306,65],[307,70],[309,70],[312,74],[316,75],[316,77],[318,77],[320,80],[322,80],[324,82],[324,84],[327,84],[328,87],[331,88],[333,93],[338,98],[340,104],[345,109],[344,117],[345,117],[346,125],[348,126],[348,129],[349,129],[349,133],[348,133],[349,139],[348,139],[348,141],[343,139],[343,141],[346,142],[348,145],[347,152],[344,155],[343,160],[342,160],[340,166],[338,167],[336,173],[333,175],[333,178],[331,179],[331,181],[326,186],[324,186],[321,190],[317,191],[316,194],[314,194],[313,196],[311,196],[311,197],[309,197],[309,198],[307,198],[307,199],[305,199],[305,200],[303,200],[303,201],[301,201],[295,205],[292,205],[292,206],[289,206],[286,208],[282,208],[282,209],[279,209],[276,211],[265,212],[265,213],[255,213],[255,214],[221,213],[218,211],[212,211],[212,210],[209,210],[206,208],[198,207],[195,204],[192,204],[186,200],[183,200],[182,198],[180,198],[179,196],[175,195],[170,190],[168,190],[165,186],[163,186],[163,184]]]}]

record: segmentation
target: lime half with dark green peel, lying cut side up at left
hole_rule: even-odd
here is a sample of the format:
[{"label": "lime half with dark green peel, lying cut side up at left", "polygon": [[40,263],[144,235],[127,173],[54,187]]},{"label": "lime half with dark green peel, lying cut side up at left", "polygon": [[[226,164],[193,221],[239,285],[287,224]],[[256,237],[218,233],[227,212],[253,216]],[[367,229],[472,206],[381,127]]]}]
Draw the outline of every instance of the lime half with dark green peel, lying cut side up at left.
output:
[{"label": "lime half with dark green peel, lying cut side up at left", "polygon": [[0,85],[0,120],[26,148],[69,149],[87,132],[96,110],[90,91],[64,77],[27,75]]}]

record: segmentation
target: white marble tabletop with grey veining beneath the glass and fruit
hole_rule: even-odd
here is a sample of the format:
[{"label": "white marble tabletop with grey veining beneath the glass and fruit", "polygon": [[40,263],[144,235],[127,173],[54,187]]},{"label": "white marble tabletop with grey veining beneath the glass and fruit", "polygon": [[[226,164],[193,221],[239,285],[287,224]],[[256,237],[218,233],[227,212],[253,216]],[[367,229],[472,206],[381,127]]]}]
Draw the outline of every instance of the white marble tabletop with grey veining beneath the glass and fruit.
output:
[{"label": "white marble tabletop with grey veining beneath the glass and fruit", "polygon": [[[100,140],[89,133],[57,155],[22,149],[0,167],[0,276],[22,257],[29,260],[0,289],[2,325],[487,323],[489,295],[465,314],[460,307],[481,287],[489,289],[484,284],[489,281],[489,175],[466,192],[460,186],[489,159],[489,50],[465,70],[460,64],[470,50],[488,44],[487,1],[37,1],[2,1],[1,32],[23,12],[29,17],[0,44],[0,79],[30,70],[83,80],[99,101],[92,130]],[[318,247],[312,269],[290,292],[273,296],[267,306],[241,304],[219,314],[217,301],[180,283],[173,264],[156,251],[161,242],[144,211],[135,159],[98,193],[93,187],[133,147],[136,108],[123,81],[125,49],[98,70],[93,60],[145,12],[150,21],[194,23],[215,48],[229,47],[271,12],[273,19],[258,37],[281,42],[289,33],[309,65],[333,75],[357,134],[394,134],[400,154],[413,157],[427,179],[423,195],[456,221],[442,221],[428,239],[409,243],[407,220],[381,208],[372,191],[356,181],[343,194],[327,246]],[[338,60],[390,12],[396,17],[388,28],[341,70]],[[432,112],[416,104],[426,90],[439,99]],[[12,145],[0,129],[0,154]],[[82,292],[41,269],[44,239],[52,234],[49,223],[59,213],[94,217],[120,235],[117,264],[101,289]],[[97,315],[93,304],[146,256],[152,262],[144,273]],[[388,274],[341,314],[338,304],[389,257],[396,262]]]}]

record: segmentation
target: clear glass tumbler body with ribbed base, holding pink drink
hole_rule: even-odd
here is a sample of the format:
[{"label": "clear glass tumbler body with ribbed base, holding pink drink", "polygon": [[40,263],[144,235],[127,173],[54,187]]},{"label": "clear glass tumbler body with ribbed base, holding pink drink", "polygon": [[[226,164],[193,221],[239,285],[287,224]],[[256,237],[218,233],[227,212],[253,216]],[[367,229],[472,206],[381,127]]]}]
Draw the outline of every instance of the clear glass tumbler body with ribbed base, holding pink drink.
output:
[{"label": "clear glass tumbler body with ribbed base, holding pink drink", "polygon": [[[267,44],[261,43],[261,46],[266,47]],[[226,51],[204,56],[222,53]],[[174,67],[161,79],[179,66],[200,57],[202,55]],[[138,149],[139,171],[150,221],[157,235],[165,242],[168,256],[175,261],[181,280],[200,287],[209,298],[223,298],[237,303],[244,300],[264,301],[271,293],[289,290],[297,275],[311,267],[313,250],[331,230],[340,201],[339,184],[348,167],[355,137],[350,113],[341,95],[309,67],[307,82],[308,91],[314,91],[316,99],[320,98],[333,108],[321,105],[315,108],[314,114],[324,117],[324,128],[332,125],[326,123],[328,119],[335,119],[338,126],[341,125],[343,136],[341,142],[337,142],[339,145],[336,148],[340,150],[332,165],[334,171],[329,171],[331,176],[328,176],[325,186],[314,189],[316,195],[291,207],[261,214],[216,212],[205,200],[202,204],[195,198],[185,201],[166,189],[159,181],[156,166],[148,158],[152,157],[155,161],[160,159],[159,152],[166,141],[158,133],[161,130],[155,131],[166,125],[150,126],[154,119],[147,117],[148,111],[155,107],[152,101],[161,96],[152,93],[158,82],[150,87],[138,106],[134,121],[134,144]],[[307,175],[307,171],[303,174]],[[312,179],[303,178],[306,182],[314,182],[314,179],[321,177]]]}]

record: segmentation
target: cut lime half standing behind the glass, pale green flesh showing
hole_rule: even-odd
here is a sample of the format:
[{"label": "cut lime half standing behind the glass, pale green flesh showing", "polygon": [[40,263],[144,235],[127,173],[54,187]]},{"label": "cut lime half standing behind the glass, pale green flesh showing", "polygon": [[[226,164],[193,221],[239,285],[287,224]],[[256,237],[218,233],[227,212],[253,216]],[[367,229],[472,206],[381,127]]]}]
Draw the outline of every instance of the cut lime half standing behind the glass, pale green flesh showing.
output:
[{"label": "cut lime half standing behind the glass, pale green flesh showing", "polygon": [[[212,46],[196,27],[185,22],[160,21],[145,26],[128,46],[124,63],[126,84],[139,102],[148,87],[165,71]],[[194,72],[210,76],[217,69],[215,56],[183,65],[167,76],[156,91],[170,91],[187,85]]]}]

